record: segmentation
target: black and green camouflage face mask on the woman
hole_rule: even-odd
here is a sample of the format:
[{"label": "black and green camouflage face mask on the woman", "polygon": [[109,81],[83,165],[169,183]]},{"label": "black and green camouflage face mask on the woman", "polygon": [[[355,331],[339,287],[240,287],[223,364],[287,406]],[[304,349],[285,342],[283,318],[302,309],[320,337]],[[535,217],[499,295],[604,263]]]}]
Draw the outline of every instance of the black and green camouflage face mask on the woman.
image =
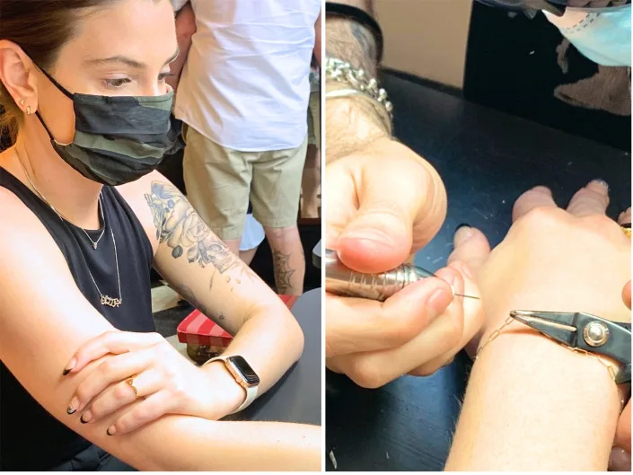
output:
[{"label": "black and green camouflage face mask on the woman", "polygon": [[59,144],[39,111],[38,119],[57,154],[84,177],[104,185],[122,185],[154,171],[163,154],[181,146],[180,120],[171,115],[173,91],[138,97],[74,94],[40,70],[73,101],[73,142]]}]

